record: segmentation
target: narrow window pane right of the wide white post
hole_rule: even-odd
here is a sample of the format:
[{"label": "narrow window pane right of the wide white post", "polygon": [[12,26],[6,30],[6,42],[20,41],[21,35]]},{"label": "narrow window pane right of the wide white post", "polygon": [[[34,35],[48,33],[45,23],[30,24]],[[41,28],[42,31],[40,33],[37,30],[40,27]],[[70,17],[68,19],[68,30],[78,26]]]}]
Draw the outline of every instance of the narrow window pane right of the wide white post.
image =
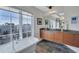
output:
[{"label": "narrow window pane right of the wide white post", "polygon": [[22,24],[22,35],[23,38],[25,37],[30,37],[31,36],[31,16],[26,16],[26,15],[22,15],[23,16],[23,24]]}]

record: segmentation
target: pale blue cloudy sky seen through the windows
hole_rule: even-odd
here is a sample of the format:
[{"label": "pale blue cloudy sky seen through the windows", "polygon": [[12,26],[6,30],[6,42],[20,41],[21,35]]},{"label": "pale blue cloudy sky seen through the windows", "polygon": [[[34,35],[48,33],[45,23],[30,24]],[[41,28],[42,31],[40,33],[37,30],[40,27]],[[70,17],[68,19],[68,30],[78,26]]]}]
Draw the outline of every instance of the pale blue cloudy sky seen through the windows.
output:
[{"label": "pale blue cloudy sky seen through the windows", "polygon": [[[11,20],[15,25],[19,24],[19,14],[0,10],[0,24],[10,23]],[[31,17],[23,15],[23,24],[26,23],[31,24]]]}]

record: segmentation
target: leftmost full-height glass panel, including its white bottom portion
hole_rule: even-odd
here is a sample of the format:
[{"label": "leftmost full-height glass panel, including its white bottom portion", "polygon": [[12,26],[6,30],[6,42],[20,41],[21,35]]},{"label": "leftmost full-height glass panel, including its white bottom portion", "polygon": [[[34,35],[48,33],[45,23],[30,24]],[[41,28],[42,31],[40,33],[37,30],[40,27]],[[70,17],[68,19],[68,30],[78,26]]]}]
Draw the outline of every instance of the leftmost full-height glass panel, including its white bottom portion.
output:
[{"label": "leftmost full-height glass panel, including its white bottom portion", "polygon": [[0,9],[0,52],[11,52],[10,12]]}]

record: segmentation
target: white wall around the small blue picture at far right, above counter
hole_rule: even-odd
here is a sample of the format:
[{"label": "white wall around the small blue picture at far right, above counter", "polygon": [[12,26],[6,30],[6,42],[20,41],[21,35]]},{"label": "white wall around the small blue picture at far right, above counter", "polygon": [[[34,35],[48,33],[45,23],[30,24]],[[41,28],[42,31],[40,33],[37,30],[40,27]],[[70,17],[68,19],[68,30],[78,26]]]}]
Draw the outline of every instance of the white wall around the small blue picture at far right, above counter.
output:
[{"label": "white wall around the small blue picture at far right, above counter", "polygon": [[[68,24],[68,29],[79,31],[79,7],[78,6],[65,6],[65,23]],[[71,17],[77,16],[78,21],[76,24],[71,24]]]}]

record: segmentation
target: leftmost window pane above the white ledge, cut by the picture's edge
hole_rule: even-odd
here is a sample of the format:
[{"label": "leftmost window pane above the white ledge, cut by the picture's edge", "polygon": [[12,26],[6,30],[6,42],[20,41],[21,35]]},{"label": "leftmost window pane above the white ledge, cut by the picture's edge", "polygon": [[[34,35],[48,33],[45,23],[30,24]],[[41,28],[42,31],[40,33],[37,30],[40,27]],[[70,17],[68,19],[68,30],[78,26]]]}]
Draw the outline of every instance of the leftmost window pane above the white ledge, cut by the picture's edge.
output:
[{"label": "leftmost window pane above the white ledge, cut by the picture's edge", "polygon": [[10,42],[10,12],[0,10],[0,45]]}]

